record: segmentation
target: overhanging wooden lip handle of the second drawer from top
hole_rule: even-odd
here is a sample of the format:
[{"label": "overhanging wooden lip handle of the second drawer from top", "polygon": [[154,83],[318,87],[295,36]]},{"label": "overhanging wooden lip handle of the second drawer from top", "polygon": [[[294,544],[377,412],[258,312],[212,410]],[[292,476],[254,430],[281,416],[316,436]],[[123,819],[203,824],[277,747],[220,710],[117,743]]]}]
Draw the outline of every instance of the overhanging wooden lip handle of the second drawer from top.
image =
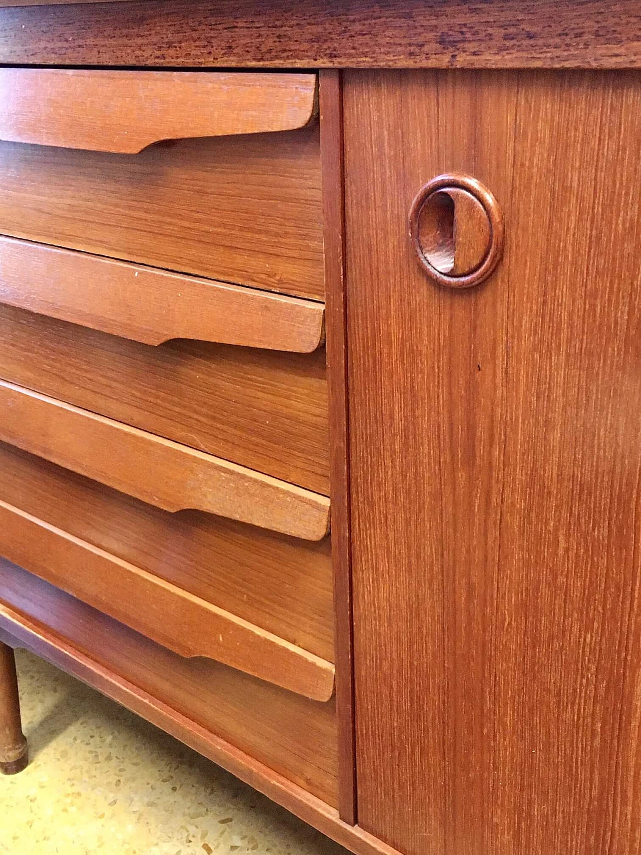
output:
[{"label": "overhanging wooden lip handle of the second drawer from top", "polygon": [[323,304],[0,237],[0,303],[145,345],[201,339],[310,353]]}]

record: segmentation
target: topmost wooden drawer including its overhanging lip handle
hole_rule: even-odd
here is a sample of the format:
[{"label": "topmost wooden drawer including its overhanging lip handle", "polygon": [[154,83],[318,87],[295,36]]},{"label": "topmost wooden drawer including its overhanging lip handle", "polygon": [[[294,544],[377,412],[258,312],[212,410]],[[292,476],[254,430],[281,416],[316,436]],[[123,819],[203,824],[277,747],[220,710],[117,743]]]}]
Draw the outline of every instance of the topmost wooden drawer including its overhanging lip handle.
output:
[{"label": "topmost wooden drawer including its overhanging lip handle", "polygon": [[0,69],[0,233],[322,299],[315,86]]}]

